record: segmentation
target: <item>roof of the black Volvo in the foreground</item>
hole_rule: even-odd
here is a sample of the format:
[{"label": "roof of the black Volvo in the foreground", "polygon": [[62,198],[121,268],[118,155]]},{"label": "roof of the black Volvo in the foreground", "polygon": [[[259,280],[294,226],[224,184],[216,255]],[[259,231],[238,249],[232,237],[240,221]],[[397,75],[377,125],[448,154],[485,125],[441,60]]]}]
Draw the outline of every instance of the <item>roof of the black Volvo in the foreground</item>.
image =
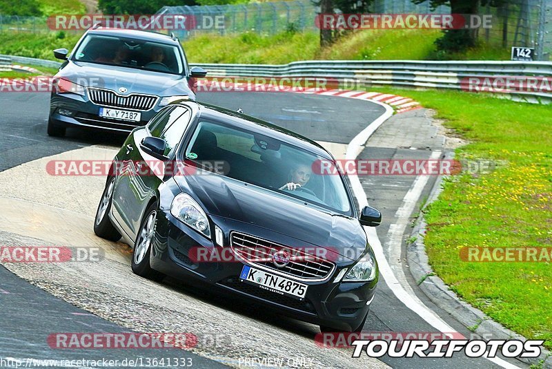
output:
[{"label": "roof of the black Volvo in the foreground", "polygon": [[317,144],[317,142],[299,135],[299,133],[277,126],[276,124],[203,102],[186,102],[186,104],[196,104],[199,107],[200,117],[225,122],[237,128],[248,129],[249,131],[292,144],[306,151],[311,151],[311,153],[315,153],[326,159],[333,159],[331,153],[328,153],[328,151]]}]

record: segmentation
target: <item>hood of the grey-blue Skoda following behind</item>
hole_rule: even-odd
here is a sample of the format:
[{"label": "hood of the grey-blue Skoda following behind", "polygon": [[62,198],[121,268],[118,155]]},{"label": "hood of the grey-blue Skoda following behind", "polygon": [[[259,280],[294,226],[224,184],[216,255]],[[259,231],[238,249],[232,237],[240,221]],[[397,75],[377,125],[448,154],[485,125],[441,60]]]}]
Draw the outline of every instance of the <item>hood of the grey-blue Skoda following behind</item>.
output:
[{"label": "hood of the grey-blue Skoda following behind", "polygon": [[119,66],[68,61],[57,77],[69,79],[81,86],[95,86],[117,91],[124,87],[129,93],[157,96],[189,95],[195,97],[185,75],[153,72]]}]

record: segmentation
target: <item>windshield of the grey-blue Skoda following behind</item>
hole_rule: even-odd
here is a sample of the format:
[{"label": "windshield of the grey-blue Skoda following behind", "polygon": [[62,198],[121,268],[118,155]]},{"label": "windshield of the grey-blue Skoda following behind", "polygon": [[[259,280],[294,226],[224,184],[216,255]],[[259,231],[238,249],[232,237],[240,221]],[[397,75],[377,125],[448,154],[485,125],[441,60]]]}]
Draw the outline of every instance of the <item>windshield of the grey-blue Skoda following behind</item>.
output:
[{"label": "windshield of the grey-blue Skoda following behind", "polygon": [[184,71],[176,46],[126,37],[88,35],[75,51],[74,59],[162,73]]}]

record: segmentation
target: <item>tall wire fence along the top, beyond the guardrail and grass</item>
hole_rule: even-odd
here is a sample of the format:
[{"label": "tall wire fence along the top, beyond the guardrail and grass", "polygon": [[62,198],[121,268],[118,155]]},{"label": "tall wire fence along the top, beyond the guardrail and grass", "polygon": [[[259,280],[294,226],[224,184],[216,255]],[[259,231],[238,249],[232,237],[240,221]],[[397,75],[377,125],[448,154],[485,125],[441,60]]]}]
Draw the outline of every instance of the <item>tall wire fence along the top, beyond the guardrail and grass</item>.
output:
[{"label": "tall wire fence along the top, beyond the guardrail and grass", "polygon": [[[310,0],[247,3],[224,6],[166,6],[157,15],[187,15],[197,19],[190,30],[176,30],[180,39],[195,35],[255,32],[272,35],[284,30],[317,32],[315,15],[319,7]],[[414,4],[411,0],[375,0],[370,12],[379,14],[449,14],[449,6],[431,9],[429,1]],[[502,6],[483,6],[480,14],[492,16],[491,28],[477,30],[477,39],[490,47],[535,48],[537,60],[549,60],[552,53],[552,0],[511,0]],[[215,17],[224,26],[208,27]],[[0,32],[56,32],[48,28],[44,17],[6,17],[0,15]],[[68,31],[82,32],[82,31]],[[393,30],[390,30],[393,32]]]}]

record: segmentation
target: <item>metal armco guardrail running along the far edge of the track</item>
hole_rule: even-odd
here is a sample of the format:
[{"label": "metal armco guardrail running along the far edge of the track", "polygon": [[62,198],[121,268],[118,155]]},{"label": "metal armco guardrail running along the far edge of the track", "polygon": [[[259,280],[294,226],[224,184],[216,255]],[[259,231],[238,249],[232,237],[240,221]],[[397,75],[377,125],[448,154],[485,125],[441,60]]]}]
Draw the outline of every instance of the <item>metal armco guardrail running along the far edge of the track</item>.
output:
[{"label": "metal armco guardrail running along the far edge of the track", "polygon": [[[58,61],[0,55],[12,62],[59,67]],[[358,81],[364,86],[392,85],[414,88],[462,88],[466,77],[546,77],[552,80],[549,61],[294,61],[290,64],[193,64],[210,77],[326,77]],[[544,91],[495,91],[524,102],[552,102],[551,88]]]}]

